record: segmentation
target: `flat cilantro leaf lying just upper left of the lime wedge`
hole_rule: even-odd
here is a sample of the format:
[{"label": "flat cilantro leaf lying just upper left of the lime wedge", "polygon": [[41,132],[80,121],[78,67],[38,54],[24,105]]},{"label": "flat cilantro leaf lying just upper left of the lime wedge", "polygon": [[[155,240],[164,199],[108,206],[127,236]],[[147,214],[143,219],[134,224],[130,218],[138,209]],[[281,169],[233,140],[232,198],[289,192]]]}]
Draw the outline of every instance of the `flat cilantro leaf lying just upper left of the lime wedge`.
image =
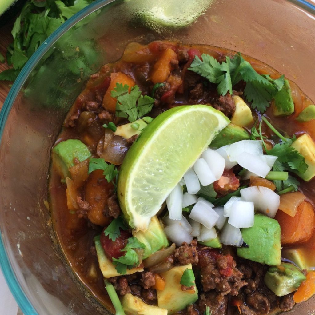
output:
[{"label": "flat cilantro leaf lying just upper left of the lime wedge", "polygon": [[148,95],[141,95],[138,85],[129,93],[129,86],[122,83],[116,83],[111,96],[117,99],[116,116],[128,118],[131,123],[150,112],[155,101]]}]

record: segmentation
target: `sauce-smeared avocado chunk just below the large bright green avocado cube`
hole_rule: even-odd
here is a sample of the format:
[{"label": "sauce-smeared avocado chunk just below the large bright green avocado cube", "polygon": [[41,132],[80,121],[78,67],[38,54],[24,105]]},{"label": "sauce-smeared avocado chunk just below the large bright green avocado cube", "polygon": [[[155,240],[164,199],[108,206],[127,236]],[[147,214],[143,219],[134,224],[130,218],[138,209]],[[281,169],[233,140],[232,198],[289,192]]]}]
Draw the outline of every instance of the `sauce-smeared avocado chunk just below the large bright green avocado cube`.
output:
[{"label": "sauce-smeared avocado chunk just below the large bright green avocado cube", "polygon": [[299,268],[290,263],[270,267],[265,274],[266,286],[277,296],[287,295],[299,288],[305,275]]}]

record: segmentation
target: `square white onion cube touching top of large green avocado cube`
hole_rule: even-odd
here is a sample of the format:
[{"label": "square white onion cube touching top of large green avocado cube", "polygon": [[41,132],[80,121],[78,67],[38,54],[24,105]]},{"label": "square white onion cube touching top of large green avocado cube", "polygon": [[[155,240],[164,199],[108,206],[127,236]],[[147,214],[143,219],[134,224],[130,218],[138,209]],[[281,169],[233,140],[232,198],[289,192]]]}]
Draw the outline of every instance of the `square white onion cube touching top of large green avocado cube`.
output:
[{"label": "square white onion cube touching top of large green avocado cube", "polygon": [[231,207],[228,223],[234,227],[251,227],[254,225],[254,203],[235,201]]}]

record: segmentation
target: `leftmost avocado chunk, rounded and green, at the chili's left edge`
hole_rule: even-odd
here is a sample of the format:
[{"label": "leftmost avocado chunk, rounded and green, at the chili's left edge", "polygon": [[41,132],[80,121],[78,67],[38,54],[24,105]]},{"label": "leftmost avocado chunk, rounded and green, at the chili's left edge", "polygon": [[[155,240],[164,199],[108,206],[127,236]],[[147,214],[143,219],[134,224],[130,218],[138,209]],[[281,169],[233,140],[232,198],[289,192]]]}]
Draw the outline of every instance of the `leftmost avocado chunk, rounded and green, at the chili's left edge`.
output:
[{"label": "leftmost avocado chunk, rounded and green, at the chili's left edge", "polygon": [[89,148],[80,140],[68,139],[59,142],[52,149],[54,167],[61,178],[70,177],[69,169],[74,166],[75,160],[83,162],[91,156]]}]

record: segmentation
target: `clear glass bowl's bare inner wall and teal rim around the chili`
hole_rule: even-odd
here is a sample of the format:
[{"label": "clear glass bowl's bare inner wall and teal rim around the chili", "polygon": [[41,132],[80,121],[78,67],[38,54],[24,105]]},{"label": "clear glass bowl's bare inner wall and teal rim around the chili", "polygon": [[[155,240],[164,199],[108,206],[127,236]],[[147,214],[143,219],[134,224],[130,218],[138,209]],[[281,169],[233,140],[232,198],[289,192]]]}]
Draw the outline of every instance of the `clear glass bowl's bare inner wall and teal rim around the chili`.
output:
[{"label": "clear glass bowl's bare inner wall and teal rim around the chili", "polygon": [[[25,315],[109,314],[64,261],[47,181],[50,148],[67,110],[89,75],[117,60],[127,43],[169,39],[240,51],[284,73],[315,100],[312,4],[213,0],[191,26],[153,30],[135,20],[146,1],[133,1],[135,10],[127,8],[132,2],[96,1],[63,24],[23,68],[0,113],[0,261]],[[314,310],[312,298],[287,314]]]}]

